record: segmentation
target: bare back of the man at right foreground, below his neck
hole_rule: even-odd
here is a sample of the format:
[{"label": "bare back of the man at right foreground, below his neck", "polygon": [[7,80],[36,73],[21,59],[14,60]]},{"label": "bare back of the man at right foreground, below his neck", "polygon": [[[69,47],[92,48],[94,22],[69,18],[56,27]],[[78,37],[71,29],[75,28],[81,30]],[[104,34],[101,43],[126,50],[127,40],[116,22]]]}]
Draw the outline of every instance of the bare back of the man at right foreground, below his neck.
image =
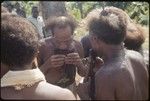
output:
[{"label": "bare back of the man at right foreground, below his neck", "polygon": [[114,60],[96,73],[96,99],[148,99],[148,71],[142,56],[126,51],[124,59]]}]

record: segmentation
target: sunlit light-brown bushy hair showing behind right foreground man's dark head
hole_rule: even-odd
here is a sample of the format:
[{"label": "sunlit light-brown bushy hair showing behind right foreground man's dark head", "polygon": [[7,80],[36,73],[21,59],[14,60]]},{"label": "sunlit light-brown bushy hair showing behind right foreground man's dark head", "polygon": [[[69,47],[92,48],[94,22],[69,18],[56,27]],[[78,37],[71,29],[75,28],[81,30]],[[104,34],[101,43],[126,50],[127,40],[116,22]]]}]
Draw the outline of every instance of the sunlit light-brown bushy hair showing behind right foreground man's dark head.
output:
[{"label": "sunlit light-brown bushy hair showing behind right foreground man's dark head", "polygon": [[[127,32],[126,32],[126,38],[124,40],[125,47],[127,49],[138,51],[141,49],[142,44],[145,41],[145,33],[142,27],[139,24],[136,24],[133,22],[133,20],[129,17],[129,15],[116,7],[106,7],[105,9],[110,9],[113,12],[118,12],[121,15],[124,16],[124,19],[127,21]],[[91,19],[93,19],[94,16],[99,15],[99,12],[101,12],[102,9],[94,9],[92,10],[87,17],[85,18],[85,21],[89,22]]]}]

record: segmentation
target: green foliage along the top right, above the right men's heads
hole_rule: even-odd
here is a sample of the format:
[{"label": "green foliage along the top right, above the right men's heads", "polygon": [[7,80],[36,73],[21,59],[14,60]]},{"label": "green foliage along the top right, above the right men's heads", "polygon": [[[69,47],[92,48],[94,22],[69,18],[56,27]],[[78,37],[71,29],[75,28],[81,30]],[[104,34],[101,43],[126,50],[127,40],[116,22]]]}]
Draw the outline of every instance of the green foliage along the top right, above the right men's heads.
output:
[{"label": "green foliage along the top right, above the right men's heads", "polygon": [[147,2],[66,2],[68,12],[71,12],[77,20],[85,18],[91,10],[103,6],[114,6],[123,9],[137,23],[149,24],[149,4]]}]

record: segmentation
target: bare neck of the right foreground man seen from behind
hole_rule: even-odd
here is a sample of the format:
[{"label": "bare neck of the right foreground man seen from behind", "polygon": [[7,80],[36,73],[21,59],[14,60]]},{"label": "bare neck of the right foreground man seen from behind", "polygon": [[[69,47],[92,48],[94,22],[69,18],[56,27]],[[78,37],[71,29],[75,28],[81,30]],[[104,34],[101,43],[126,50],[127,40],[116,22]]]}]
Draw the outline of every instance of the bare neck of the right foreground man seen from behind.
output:
[{"label": "bare neck of the right foreground man seen from behind", "polygon": [[106,48],[103,49],[103,60],[105,62],[117,59],[124,56],[124,46],[121,45],[109,45]]}]

